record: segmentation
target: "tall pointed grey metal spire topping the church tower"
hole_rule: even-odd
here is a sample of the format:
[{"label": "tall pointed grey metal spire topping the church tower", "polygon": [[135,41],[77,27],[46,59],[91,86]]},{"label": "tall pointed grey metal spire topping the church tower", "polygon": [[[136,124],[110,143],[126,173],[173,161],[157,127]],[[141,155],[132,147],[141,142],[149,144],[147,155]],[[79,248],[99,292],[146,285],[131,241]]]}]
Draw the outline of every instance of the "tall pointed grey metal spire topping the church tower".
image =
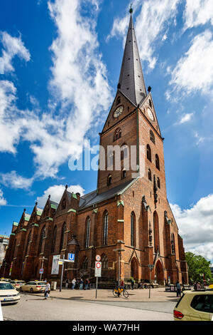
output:
[{"label": "tall pointed grey metal spire topping the church tower", "polygon": [[[133,9],[129,12],[132,14]],[[136,106],[147,96],[132,16],[126,36],[118,90]]]}]

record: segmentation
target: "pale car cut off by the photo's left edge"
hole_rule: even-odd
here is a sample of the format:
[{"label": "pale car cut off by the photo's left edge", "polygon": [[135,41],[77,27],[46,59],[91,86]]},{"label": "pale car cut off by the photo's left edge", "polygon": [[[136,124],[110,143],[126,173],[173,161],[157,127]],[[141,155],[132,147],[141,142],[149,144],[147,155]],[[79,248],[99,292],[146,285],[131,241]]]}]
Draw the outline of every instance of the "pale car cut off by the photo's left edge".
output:
[{"label": "pale car cut off by the photo's left edge", "polygon": [[20,294],[9,282],[0,281],[0,301],[1,304],[17,304]]}]

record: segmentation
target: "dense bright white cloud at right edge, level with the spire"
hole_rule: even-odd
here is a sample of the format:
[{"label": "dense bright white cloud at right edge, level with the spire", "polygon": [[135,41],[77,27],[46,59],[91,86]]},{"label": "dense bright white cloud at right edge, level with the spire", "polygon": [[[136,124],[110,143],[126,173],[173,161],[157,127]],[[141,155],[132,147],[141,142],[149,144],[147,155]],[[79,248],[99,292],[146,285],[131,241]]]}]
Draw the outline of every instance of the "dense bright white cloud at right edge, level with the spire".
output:
[{"label": "dense bright white cloud at right edge, level with the spire", "polygon": [[190,94],[197,91],[201,91],[203,94],[212,94],[212,54],[212,32],[206,30],[195,36],[189,50],[170,72],[170,86],[173,86],[173,89],[166,92],[167,98],[170,98],[171,93],[175,92],[181,93],[181,98],[183,93]]}]

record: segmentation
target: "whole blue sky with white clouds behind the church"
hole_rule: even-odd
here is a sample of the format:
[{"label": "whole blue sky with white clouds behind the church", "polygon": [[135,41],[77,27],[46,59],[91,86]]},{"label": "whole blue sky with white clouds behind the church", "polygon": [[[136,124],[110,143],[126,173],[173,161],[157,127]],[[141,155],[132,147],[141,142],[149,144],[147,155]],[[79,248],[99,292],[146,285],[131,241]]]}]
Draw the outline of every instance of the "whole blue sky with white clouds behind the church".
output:
[{"label": "whole blue sky with white clouds behind the church", "polygon": [[7,0],[0,11],[0,234],[64,186],[84,140],[99,144],[119,80],[129,7],[165,138],[168,200],[185,249],[213,262],[211,0]]}]

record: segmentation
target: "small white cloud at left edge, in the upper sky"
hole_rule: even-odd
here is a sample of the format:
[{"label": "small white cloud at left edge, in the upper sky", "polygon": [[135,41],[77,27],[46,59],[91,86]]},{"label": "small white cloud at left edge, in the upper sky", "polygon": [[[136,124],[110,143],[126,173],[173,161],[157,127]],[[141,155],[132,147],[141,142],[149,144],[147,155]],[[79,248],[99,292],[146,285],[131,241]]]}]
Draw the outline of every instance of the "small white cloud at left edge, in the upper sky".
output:
[{"label": "small white cloud at left edge, in the upper sky", "polygon": [[18,56],[25,61],[31,59],[31,54],[23,45],[21,36],[12,37],[6,31],[0,32],[0,41],[3,45],[2,56],[0,57],[1,66],[3,66],[3,72],[13,72],[14,68],[12,65],[13,58]]}]

